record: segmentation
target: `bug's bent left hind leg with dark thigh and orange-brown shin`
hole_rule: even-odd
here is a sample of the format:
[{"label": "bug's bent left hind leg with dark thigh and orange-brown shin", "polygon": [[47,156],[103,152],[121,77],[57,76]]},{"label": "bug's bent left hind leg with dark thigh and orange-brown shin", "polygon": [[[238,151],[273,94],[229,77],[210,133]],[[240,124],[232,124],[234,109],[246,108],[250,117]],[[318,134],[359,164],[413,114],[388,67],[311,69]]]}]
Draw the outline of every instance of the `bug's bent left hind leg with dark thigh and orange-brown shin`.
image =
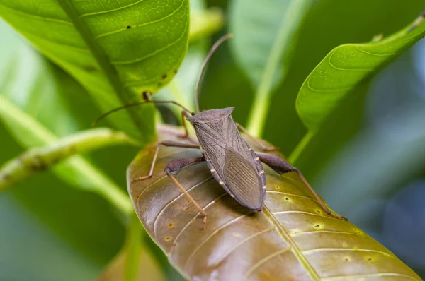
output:
[{"label": "bug's bent left hind leg with dark thigh and orange-brown shin", "polygon": [[184,167],[191,165],[193,163],[197,163],[197,162],[202,162],[205,161],[204,157],[197,157],[197,158],[183,158],[183,159],[176,159],[176,160],[172,160],[171,162],[169,162],[166,167],[165,167],[165,173],[167,176],[170,177],[171,181],[174,182],[174,184],[179,187],[179,189],[181,190],[181,192],[183,192],[183,194],[186,196],[186,198],[188,198],[188,201],[191,201],[191,203],[198,209],[199,213],[201,215],[203,215],[204,219],[203,219],[203,223],[207,222],[207,213],[205,213],[205,211],[203,210],[202,207],[200,207],[200,205],[195,201],[195,199],[193,199],[193,197],[191,196],[191,194],[189,194],[186,189],[183,188],[183,186],[181,186],[181,184],[179,183],[179,181],[176,180],[176,178],[174,177],[174,175],[179,174],[179,172],[181,171],[181,169],[183,169]]}]

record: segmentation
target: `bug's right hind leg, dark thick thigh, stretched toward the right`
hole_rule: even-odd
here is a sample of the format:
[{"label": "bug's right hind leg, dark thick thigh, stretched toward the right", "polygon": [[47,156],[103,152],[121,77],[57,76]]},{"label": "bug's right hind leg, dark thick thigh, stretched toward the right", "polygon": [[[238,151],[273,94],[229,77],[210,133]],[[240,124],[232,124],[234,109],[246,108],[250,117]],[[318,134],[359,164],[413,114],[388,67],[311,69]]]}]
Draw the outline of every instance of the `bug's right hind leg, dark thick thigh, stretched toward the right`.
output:
[{"label": "bug's right hind leg, dark thick thigh, stretched toward the right", "polygon": [[341,215],[338,215],[336,213],[333,213],[327,205],[323,202],[322,198],[314,191],[312,186],[308,183],[307,179],[302,175],[299,169],[293,167],[290,165],[287,161],[283,160],[282,158],[276,156],[276,155],[270,155],[270,154],[262,154],[258,153],[259,159],[261,162],[268,165],[268,167],[271,167],[274,171],[276,171],[278,174],[285,174],[287,172],[296,172],[298,174],[298,177],[304,181],[304,184],[307,186],[308,189],[313,193],[313,196],[319,201],[319,205],[322,206],[322,209],[325,213],[328,215],[331,215],[332,217],[337,217],[339,219],[347,220],[346,217],[343,217]]}]

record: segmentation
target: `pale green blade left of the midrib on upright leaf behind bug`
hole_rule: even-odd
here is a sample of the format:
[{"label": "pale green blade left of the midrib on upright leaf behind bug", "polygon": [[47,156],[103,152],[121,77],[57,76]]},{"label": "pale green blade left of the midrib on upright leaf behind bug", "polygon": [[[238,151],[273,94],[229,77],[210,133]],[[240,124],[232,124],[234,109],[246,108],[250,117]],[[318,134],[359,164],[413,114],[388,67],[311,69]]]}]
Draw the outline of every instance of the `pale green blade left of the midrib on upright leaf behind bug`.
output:
[{"label": "pale green blade left of the midrib on upright leaf behind bug", "polygon": [[[259,1],[235,0],[230,2],[229,29],[234,34],[230,43],[232,54],[244,73],[251,80],[254,88],[261,84],[263,74],[270,60],[271,53],[282,53],[290,42],[278,42],[279,32],[286,28],[285,14],[290,0],[275,0],[261,3]],[[273,49],[280,44],[278,49]],[[278,63],[273,73],[273,88],[283,76],[283,65]]]}]

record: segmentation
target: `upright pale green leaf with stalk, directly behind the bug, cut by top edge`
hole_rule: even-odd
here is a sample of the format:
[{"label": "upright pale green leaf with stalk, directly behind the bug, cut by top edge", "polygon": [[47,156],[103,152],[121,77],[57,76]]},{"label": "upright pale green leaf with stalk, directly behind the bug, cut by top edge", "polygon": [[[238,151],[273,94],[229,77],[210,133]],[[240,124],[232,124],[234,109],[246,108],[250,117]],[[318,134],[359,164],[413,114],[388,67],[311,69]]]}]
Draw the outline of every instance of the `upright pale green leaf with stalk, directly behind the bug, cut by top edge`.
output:
[{"label": "upright pale green leaf with stalk, directly behind the bug, cut by top edge", "polygon": [[248,129],[261,136],[271,94],[288,72],[298,30],[312,0],[236,0],[230,11],[234,56],[256,88]]}]

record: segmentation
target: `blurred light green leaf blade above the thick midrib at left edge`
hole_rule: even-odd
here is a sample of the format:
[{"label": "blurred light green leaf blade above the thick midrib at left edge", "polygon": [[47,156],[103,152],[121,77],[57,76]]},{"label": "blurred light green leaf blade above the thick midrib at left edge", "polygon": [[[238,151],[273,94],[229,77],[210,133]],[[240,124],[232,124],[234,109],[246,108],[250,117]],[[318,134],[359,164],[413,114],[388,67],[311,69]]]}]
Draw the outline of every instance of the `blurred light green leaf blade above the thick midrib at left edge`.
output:
[{"label": "blurred light green leaf blade above the thick midrib at left edge", "polygon": [[57,136],[88,128],[101,112],[84,88],[40,56],[3,20],[0,33],[0,95]]}]

